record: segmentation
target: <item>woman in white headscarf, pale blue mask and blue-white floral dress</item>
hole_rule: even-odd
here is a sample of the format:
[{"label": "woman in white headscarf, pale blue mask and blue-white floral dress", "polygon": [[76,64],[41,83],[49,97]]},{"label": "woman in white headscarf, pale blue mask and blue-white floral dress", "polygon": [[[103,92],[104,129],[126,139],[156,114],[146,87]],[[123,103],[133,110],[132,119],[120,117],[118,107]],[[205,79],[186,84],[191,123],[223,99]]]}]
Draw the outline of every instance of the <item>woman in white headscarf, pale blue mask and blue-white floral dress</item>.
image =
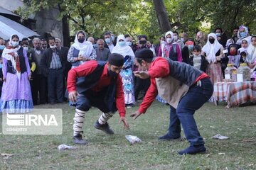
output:
[{"label": "woman in white headscarf, pale blue mask and blue-white floral dress", "polygon": [[124,89],[124,103],[127,107],[134,105],[134,79],[132,76],[132,66],[134,63],[134,52],[129,45],[126,45],[124,35],[118,35],[117,45],[113,48],[112,53],[124,56],[124,66],[120,75],[122,77]]}]

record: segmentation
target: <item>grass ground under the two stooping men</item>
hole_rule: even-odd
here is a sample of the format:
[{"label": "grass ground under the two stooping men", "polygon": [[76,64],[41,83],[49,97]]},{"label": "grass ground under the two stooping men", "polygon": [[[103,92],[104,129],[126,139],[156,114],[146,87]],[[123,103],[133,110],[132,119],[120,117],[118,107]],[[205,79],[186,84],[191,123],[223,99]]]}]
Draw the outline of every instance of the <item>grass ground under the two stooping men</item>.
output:
[{"label": "grass ground under the two stooping men", "polygon": [[[49,107],[37,106],[36,108]],[[63,108],[63,135],[3,135],[0,133],[0,169],[256,169],[256,106],[225,108],[206,103],[195,117],[206,140],[207,153],[180,156],[178,150],[188,147],[187,141],[160,142],[169,124],[169,107],[154,102],[149,111],[137,120],[129,114],[130,130],[119,124],[114,115],[109,123],[114,135],[93,128],[100,111],[92,108],[85,115],[84,135],[88,145],[59,152],[61,144],[73,145],[73,108]],[[1,116],[0,116],[1,120]],[[0,131],[1,132],[1,131]],[[213,135],[228,140],[211,139]],[[137,135],[142,143],[129,145],[124,135]]]}]

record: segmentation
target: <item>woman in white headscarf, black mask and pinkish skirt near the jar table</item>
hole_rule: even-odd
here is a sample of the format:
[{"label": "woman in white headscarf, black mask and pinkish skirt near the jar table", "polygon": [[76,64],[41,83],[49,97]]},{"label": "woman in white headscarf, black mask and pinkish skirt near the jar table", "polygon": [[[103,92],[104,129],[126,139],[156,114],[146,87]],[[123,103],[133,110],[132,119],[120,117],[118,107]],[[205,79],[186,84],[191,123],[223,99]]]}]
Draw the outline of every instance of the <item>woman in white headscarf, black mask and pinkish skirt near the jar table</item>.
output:
[{"label": "woman in white headscarf, black mask and pinkish skirt near the jar table", "polygon": [[223,80],[223,74],[220,66],[220,59],[223,57],[223,46],[218,42],[215,33],[208,35],[206,45],[202,48],[201,55],[205,55],[209,62],[206,73],[209,75],[213,84]]}]

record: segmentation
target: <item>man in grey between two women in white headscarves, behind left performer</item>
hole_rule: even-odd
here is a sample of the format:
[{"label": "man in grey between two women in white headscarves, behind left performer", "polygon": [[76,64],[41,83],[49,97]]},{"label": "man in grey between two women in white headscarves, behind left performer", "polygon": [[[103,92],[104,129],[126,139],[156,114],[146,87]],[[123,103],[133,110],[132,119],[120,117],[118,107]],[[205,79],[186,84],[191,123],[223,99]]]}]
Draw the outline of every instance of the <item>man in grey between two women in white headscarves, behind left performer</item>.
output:
[{"label": "man in grey between two women in white headscarves, behind left performer", "polygon": [[105,42],[102,39],[97,40],[97,48],[96,50],[96,55],[97,61],[107,61],[108,57],[110,56],[110,49],[104,47]]}]

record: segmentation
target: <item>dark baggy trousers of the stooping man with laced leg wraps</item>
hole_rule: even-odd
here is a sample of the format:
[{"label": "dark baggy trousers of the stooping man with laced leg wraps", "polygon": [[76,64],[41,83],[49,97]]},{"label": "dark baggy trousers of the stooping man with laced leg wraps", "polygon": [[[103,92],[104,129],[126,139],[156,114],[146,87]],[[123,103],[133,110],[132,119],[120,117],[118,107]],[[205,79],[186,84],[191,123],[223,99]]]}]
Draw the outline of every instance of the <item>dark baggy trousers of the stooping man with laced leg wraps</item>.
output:
[{"label": "dark baggy trousers of the stooping man with laced leg wraps", "polygon": [[[109,113],[110,109],[104,101],[106,92],[107,91],[86,91],[86,94],[80,94],[75,108],[78,108],[80,111],[89,111],[93,106],[100,109],[103,113]],[[117,108],[115,111],[117,111]]]}]

